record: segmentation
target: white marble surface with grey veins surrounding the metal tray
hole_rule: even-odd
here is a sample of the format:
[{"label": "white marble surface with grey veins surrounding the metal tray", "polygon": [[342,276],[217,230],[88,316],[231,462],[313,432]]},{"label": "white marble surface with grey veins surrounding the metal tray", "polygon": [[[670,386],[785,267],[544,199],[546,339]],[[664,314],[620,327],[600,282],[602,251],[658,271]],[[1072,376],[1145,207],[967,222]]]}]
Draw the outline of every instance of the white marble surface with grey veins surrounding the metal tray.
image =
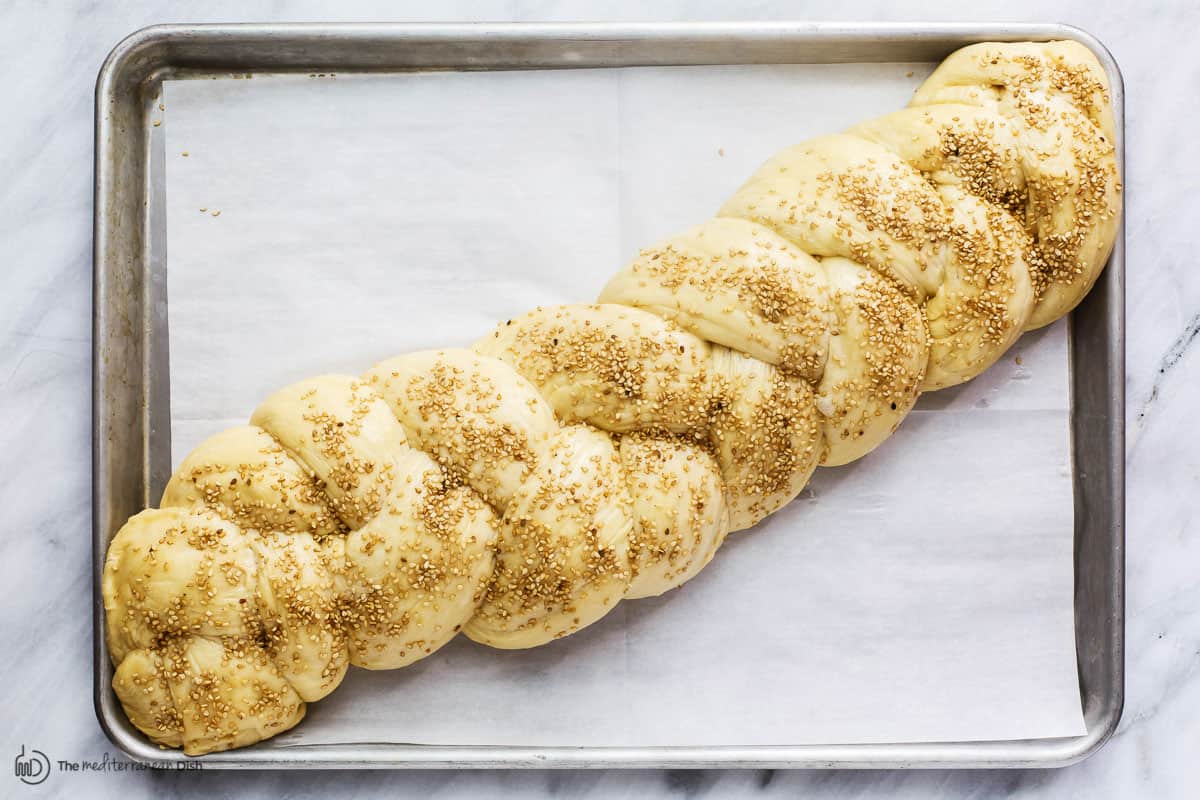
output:
[{"label": "white marble surface with grey veins surrounding the metal tray", "polygon": [[[43,7],[44,5],[44,7]],[[91,120],[96,70],[156,22],[319,19],[1037,19],[1081,25],[1124,72],[1128,115],[1126,714],[1084,764],[1004,772],[68,774],[20,747],[116,757],[91,708]],[[1184,798],[1200,784],[1200,455],[1190,409],[1200,272],[1200,6],[1100,0],[875,2],[0,4],[0,796]],[[6,748],[6,750],[4,750]]]}]

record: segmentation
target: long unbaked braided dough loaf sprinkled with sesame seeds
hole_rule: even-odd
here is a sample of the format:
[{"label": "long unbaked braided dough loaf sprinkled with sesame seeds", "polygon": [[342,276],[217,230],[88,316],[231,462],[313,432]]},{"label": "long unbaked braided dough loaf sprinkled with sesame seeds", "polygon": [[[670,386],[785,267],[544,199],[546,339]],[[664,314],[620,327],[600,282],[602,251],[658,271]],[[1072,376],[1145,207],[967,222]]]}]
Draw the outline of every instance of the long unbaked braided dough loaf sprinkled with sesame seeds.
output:
[{"label": "long unbaked braided dough loaf sprinkled with sesame seeds", "polygon": [[1118,181],[1087,49],[972,46],[908,108],[767,161],[599,305],[281,390],[114,536],[118,697],[156,742],[226,750],[349,664],[534,646],[680,585],[1073,308]]}]

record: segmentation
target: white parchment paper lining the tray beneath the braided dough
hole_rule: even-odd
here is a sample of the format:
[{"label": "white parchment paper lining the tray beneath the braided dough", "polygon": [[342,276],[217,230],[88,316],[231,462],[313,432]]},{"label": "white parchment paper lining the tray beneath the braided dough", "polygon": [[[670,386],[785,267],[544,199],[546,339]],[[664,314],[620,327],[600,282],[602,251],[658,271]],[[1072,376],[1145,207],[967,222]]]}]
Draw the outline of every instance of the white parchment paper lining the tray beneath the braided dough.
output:
[{"label": "white parchment paper lining the tray beneath the braided dough", "polygon": [[[899,108],[929,68],[167,82],[175,463],[292,380],[589,301],[772,152]],[[1080,735],[1067,375],[1060,323],[818,470],[682,590],[532,651],[460,637],[352,670],[283,740]]]}]

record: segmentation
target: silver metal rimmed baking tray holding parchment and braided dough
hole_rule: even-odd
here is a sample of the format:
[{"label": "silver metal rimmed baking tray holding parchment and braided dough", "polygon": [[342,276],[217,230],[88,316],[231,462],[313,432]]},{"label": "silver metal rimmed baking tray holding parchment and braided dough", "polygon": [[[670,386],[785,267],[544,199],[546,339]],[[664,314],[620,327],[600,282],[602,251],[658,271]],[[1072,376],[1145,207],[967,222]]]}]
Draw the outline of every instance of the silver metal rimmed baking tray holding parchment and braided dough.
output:
[{"label": "silver metal rimmed baking tray holding parchment and braided dough", "polygon": [[[157,25],[116,46],[96,85],[92,342],[92,614],[96,715],[131,758],[173,766],[110,688],[101,571],[113,534],[170,475],[161,84],[253,72],[562,70],[732,64],[938,61],[982,41],[1070,38],[1108,71],[1118,132],[1121,73],[1088,34],[1057,24],[566,23]],[[1118,133],[1123,139],[1123,136]],[[1117,143],[1123,168],[1123,144]],[[1124,239],[1070,315],[1075,636],[1086,735],[940,744],[503,747],[402,742],[281,745],[202,757],[205,768],[998,768],[1086,758],[1124,696]]]}]

